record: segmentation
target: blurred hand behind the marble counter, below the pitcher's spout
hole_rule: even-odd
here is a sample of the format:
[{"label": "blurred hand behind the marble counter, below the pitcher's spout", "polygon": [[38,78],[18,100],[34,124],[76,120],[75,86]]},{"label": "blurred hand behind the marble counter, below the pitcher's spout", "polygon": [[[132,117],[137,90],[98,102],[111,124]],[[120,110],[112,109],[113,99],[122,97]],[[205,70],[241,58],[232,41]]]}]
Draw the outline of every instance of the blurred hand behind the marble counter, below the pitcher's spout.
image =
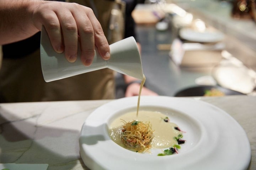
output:
[{"label": "blurred hand behind the marble counter, below the pitcher's spout", "polygon": [[[138,83],[130,84],[126,89],[125,97],[138,96],[139,95],[139,89],[140,89],[140,84],[138,84]],[[149,90],[146,87],[142,88],[141,95],[142,96],[158,96],[158,94]]]}]

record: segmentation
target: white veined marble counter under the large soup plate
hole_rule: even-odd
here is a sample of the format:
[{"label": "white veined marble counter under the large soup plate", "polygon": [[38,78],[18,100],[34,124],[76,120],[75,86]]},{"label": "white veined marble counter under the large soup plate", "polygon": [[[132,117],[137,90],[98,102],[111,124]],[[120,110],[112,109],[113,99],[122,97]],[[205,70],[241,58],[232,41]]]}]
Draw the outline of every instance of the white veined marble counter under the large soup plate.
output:
[{"label": "white veined marble counter under the large soup plate", "polygon": [[[256,169],[256,97],[203,97],[235,118],[250,140]],[[87,169],[78,138],[87,116],[110,100],[0,104],[0,163],[49,164],[47,170]],[[234,148],[234,149],[242,149]]]}]

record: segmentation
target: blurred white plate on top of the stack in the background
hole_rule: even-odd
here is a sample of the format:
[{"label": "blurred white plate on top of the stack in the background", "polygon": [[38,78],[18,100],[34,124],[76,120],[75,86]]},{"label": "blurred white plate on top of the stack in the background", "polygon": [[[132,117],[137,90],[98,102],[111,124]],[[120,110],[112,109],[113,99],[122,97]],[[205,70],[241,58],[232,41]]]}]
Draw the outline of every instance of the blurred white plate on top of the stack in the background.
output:
[{"label": "blurred white plate on top of the stack in the background", "polygon": [[208,29],[199,32],[191,28],[182,28],[179,34],[182,39],[194,42],[219,42],[224,39],[223,33]]}]

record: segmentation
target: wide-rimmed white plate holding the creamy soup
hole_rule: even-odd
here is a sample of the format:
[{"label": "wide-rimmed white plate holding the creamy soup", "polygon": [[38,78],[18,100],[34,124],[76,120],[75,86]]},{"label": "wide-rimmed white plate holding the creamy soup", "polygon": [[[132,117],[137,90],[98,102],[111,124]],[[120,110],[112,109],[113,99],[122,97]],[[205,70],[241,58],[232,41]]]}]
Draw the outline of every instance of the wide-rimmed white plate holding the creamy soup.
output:
[{"label": "wide-rimmed white plate holding the creamy soup", "polygon": [[97,108],[80,134],[80,154],[92,169],[246,169],[250,163],[249,140],[241,126],[226,112],[192,98],[142,96],[140,110],[160,111],[182,130],[186,143],[178,154],[157,156],[129,151],[114,143],[108,125],[119,115],[137,108],[138,97],[114,100]]}]

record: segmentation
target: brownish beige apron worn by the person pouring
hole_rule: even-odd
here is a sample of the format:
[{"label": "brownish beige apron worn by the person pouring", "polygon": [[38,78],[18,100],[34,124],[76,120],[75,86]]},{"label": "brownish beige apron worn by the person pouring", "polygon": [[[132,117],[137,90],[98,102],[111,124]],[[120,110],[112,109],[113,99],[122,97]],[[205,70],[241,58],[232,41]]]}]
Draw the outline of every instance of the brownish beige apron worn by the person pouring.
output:
[{"label": "brownish beige apron worn by the person pouring", "polygon": [[[72,2],[85,5],[86,1],[72,0]],[[98,7],[98,20],[102,24],[105,35],[112,36],[108,39],[110,44],[123,38],[122,31],[119,30],[119,36],[114,36],[117,29],[110,29],[111,11],[116,4],[109,0],[97,0],[95,3]],[[100,100],[114,97],[114,72],[110,69],[101,69],[46,83],[42,75],[39,49],[20,59],[2,60],[0,102]]]}]

